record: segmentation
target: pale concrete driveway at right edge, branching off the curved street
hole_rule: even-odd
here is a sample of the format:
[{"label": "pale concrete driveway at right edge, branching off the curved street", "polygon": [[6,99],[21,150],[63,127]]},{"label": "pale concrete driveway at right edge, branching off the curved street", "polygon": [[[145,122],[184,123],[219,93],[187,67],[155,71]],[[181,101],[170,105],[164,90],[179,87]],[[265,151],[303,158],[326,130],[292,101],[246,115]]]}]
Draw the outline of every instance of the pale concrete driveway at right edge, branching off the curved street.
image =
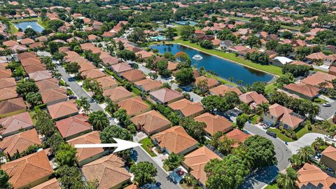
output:
[{"label": "pale concrete driveway at right edge, branching off the curved street", "polygon": [[318,137],[324,138],[324,134],[319,133],[307,133],[304,134],[300,139],[297,139],[297,141],[288,142],[288,148],[290,151],[295,154],[297,153],[297,150],[303,146],[310,146],[313,144],[315,139]]}]

